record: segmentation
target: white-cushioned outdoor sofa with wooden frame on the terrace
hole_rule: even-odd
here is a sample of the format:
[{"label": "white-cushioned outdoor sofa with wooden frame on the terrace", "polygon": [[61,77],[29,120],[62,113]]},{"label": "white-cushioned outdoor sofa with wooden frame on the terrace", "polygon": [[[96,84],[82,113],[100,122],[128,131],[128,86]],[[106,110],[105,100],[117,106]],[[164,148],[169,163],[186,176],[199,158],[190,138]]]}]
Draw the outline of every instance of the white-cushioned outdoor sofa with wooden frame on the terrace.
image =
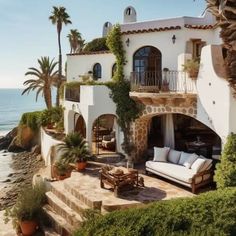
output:
[{"label": "white-cushioned outdoor sofa with wooden frame on the terrace", "polygon": [[190,187],[195,193],[199,187],[212,182],[212,159],[167,147],[154,147],[154,158],[146,162],[146,172]]}]

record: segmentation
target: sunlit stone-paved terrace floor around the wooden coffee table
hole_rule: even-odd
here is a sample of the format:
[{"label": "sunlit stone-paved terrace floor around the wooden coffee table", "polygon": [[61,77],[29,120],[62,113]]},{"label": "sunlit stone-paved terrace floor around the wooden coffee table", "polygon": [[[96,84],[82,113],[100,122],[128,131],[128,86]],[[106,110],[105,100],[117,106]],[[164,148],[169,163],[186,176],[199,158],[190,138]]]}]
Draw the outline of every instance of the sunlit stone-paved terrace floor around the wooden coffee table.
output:
[{"label": "sunlit stone-paved terrace floor around the wooden coffee table", "polygon": [[168,183],[154,175],[140,174],[144,178],[144,188],[134,188],[115,197],[111,190],[100,188],[99,169],[99,167],[90,167],[85,172],[72,172],[71,178],[59,183],[68,190],[76,189],[91,202],[102,201],[102,210],[105,211],[134,207],[156,200],[193,196],[188,189],[184,189],[182,186]]}]

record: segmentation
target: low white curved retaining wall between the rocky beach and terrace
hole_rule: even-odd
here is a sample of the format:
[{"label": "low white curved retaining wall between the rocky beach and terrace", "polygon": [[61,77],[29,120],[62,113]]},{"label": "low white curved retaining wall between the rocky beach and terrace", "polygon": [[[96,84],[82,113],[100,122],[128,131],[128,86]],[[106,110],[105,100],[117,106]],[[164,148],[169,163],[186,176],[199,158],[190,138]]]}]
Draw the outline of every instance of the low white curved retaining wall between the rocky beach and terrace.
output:
[{"label": "low white curved retaining wall between the rocky beach and terrace", "polygon": [[41,128],[41,155],[45,161],[45,165],[51,165],[51,147],[62,143],[62,141],[53,139]]}]

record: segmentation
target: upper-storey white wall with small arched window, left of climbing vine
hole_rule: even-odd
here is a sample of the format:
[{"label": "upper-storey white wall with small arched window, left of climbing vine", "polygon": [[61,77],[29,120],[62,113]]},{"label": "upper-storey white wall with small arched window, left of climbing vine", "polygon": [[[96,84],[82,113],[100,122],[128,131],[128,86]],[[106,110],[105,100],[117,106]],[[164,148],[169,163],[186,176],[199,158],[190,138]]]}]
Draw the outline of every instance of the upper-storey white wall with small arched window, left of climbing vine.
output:
[{"label": "upper-storey white wall with small arched window, left of climbing vine", "polygon": [[98,82],[105,82],[112,77],[112,66],[115,57],[111,53],[92,55],[68,55],[67,56],[67,82],[81,80],[80,76],[88,71],[93,71],[93,66],[100,63],[102,66],[102,78]]}]

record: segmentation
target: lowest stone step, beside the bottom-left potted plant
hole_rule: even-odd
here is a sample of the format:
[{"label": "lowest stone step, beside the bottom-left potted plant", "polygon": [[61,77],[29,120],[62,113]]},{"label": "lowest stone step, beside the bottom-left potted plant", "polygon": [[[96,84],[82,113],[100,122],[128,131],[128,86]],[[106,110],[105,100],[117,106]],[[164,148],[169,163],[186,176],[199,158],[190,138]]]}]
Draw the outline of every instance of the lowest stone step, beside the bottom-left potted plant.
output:
[{"label": "lowest stone step, beside the bottom-left potted plant", "polygon": [[[51,206],[48,204],[43,207],[44,211],[48,215],[50,222],[52,224],[52,228],[56,231],[60,236],[70,236],[75,231],[74,227],[72,227],[68,222],[61,216],[59,216]],[[57,235],[55,234],[55,236]],[[46,233],[45,233],[46,235]],[[50,235],[50,234],[48,234]]]}]

